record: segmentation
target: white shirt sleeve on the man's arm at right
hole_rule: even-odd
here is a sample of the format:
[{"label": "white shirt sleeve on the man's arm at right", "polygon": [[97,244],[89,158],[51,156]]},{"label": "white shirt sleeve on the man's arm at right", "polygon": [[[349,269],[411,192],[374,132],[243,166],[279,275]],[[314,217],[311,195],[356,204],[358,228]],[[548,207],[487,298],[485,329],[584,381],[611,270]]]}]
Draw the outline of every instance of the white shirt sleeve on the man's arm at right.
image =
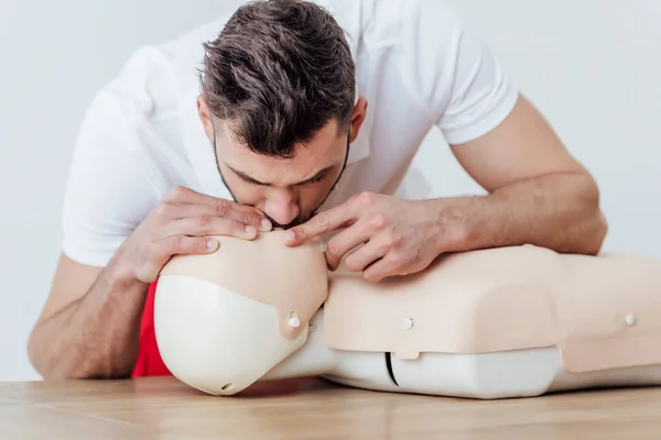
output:
[{"label": "white shirt sleeve on the man's arm at right", "polygon": [[519,92],[478,34],[444,0],[405,0],[408,87],[449,144],[480,138],[513,109]]}]

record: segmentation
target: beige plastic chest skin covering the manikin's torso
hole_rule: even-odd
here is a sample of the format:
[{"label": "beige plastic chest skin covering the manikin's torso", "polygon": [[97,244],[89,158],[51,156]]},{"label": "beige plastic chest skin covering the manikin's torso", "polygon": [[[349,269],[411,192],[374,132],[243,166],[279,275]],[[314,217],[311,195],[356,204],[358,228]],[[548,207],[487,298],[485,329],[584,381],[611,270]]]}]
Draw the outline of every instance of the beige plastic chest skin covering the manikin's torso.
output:
[{"label": "beige plastic chest skin covering the manikin's torso", "polygon": [[531,245],[438,258],[367,284],[330,277],[325,340],[337,350],[486,353],[557,346],[568,372],[661,363],[661,262]]}]

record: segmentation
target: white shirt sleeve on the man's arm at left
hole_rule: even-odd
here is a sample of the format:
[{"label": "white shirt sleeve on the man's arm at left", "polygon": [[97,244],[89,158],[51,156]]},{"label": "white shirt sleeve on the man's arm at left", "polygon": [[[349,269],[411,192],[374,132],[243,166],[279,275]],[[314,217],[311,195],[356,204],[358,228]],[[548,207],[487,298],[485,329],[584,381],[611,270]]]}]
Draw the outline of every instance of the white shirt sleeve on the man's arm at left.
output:
[{"label": "white shirt sleeve on the man's arm at left", "polygon": [[105,266],[158,202],[136,147],[126,105],[102,90],[88,108],[74,148],[63,208],[63,252]]}]

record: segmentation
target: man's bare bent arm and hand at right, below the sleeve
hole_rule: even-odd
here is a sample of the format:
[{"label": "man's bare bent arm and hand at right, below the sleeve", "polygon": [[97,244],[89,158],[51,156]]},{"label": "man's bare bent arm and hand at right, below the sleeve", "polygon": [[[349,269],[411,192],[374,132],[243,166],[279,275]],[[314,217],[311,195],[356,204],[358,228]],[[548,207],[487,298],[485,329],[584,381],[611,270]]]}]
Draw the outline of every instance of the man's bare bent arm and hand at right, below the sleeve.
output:
[{"label": "man's bare bent arm and hand at right, below the sleeve", "polygon": [[346,256],[349,271],[375,282],[420,272],[446,252],[527,243],[599,252],[607,224],[597,186],[524,98],[497,128],[452,148],[488,195],[403,200],[364,193],[292,228],[286,244],[343,229],[327,243],[329,268]]}]

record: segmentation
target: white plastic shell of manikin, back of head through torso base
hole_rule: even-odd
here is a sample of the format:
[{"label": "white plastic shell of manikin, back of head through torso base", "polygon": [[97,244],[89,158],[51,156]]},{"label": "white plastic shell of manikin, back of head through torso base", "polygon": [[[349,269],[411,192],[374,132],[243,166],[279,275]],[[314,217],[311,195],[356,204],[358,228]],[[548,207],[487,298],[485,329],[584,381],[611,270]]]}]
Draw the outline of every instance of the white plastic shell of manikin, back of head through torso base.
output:
[{"label": "white plastic shell of manikin, back of head through torso base", "polygon": [[[187,294],[189,293],[189,294]],[[156,340],[163,361],[182,382],[215,395],[234,395],[254,382],[322,376],[347,386],[393,393],[496,399],[532,397],[550,392],[610,386],[661,384],[661,366],[570,374],[557,349],[542,348],[486,354],[422,353],[416,360],[386,353],[338,351],[324,343],[324,311],[296,341],[273,331],[272,307],[227,292],[217,285],[186,276],[165,276],[155,301]],[[209,316],[187,307],[187,295],[205,295]],[[198,298],[201,299],[201,298]],[[170,311],[160,309],[167,304]],[[217,306],[217,307],[216,307]],[[219,310],[224,310],[218,315]],[[167,323],[159,320],[167,315]],[[173,318],[176,317],[176,318]],[[213,320],[213,323],[209,321]],[[178,331],[182,326],[199,329]],[[208,334],[209,329],[214,331]],[[208,334],[192,340],[191,332]],[[183,338],[183,339],[182,339]],[[163,344],[165,343],[165,344]],[[180,352],[182,346],[185,353]],[[273,359],[284,359],[273,369]],[[197,360],[197,361],[196,361]],[[203,362],[192,369],[187,363]],[[195,377],[176,372],[195,372]],[[195,384],[205,384],[204,387]]]}]

